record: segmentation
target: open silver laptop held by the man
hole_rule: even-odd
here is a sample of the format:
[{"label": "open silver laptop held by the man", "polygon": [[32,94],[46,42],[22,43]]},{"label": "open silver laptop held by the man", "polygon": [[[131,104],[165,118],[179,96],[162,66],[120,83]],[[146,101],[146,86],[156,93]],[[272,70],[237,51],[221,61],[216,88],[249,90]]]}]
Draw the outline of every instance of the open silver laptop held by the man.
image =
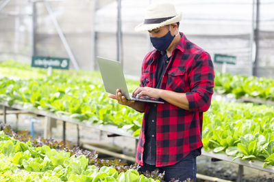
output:
[{"label": "open silver laptop held by the man", "polygon": [[164,102],[151,98],[151,97],[132,97],[127,90],[127,83],[125,82],[125,76],[123,74],[121,63],[118,61],[112,61],[102,57],[97,57],[101,76],[103,78],[103,85],[105,91],[108,93],[116,94],[116,89],[120,89],[122,95],[127,100],[136,100],[142,102],[153,102],[158,104],[164,104]]}]

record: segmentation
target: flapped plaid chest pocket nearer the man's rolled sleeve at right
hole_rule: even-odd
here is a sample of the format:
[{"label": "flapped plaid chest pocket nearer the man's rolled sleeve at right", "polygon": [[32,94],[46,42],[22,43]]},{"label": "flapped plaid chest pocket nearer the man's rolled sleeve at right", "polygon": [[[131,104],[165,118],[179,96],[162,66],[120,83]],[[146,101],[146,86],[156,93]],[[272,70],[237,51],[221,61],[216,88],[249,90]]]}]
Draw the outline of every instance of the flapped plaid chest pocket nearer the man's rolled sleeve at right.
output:
[{"label": "flapped plaid chest pocket nearer the man's rolled sleeve at right", "polygon": [[186,91],[185,81],[186,70],[179,67],[171,67],[168,72],[167,89],[178,93],[184,93]]}]

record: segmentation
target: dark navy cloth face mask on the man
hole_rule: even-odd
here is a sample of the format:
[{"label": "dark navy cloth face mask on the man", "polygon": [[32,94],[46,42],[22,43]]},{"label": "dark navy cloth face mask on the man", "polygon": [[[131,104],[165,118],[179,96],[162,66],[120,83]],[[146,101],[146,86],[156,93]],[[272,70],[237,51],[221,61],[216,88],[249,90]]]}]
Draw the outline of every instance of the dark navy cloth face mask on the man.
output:
[{"label": "dark navy cloth face mask on the man", "polygon": [[169,45],[171,44],[175,36],[176,35],[172,36],[171,30],[169,30],[169,32],[162,37],[150,37],[150,41],[153,47],[155,47],[157,50],[166,50],[167,48],[169,48]]}]

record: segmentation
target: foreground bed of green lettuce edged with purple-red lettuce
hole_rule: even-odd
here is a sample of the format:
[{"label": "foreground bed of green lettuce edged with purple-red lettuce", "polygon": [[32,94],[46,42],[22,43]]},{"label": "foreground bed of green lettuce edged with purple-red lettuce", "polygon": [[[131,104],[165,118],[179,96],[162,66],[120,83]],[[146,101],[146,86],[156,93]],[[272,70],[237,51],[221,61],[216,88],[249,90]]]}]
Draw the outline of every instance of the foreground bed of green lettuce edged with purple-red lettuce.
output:
[{"label": "foreground bed of green lettuce edged with purple-red lettuce", "polygon": [[1,129],[0,181],[160,182],[163,177],[157,171],[145,174],[154,180],[140,174],[136,165],[99,160],[95,152],[67,149],[53,139],[33,140],[5,125]]}]

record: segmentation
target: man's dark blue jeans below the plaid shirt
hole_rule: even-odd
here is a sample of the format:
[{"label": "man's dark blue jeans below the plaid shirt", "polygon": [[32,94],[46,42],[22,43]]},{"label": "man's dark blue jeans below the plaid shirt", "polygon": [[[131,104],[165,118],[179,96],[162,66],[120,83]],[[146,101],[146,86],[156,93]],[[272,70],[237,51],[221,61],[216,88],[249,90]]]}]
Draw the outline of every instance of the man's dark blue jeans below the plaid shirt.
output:
[{"label": "man's dark blue jeans below the plaid shirt", "polygon": [[[198,151],[191,151],[184,159],[179,161],[177,164],[171,166],[163,166],[158,167],[160,172],[164,172],[164,181],[171,181],[172,178],[179,179],[179,181],[185,181],[186,179],[190,179],[195,182],[196,181],[196,157]],[[150,172],[155,170],[155,165],[145,164],[141,166],[140,170],[145,172],[149,170]]]}]

